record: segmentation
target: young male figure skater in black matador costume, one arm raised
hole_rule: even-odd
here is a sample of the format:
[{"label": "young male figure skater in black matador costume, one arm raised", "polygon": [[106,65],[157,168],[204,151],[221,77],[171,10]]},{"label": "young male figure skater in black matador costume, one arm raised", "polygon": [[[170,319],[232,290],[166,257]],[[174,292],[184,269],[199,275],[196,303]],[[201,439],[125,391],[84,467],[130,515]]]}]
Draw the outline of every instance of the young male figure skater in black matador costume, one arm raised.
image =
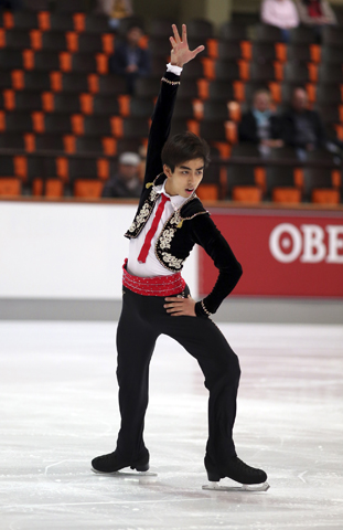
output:
[{"label": "young male figure skater in black matador costume, one arm raised", "polygon": [[[195,194],[208,163],[208,146],[184,132],[168,140],[180,74],[204,46],[191,52],[173,25],[171,64],[162,77],[149,137],[144,188],[124,266],[124,303],[117,348],[121,426],[117,448],[95,458],[93,469],[110,474],[130,466],[149,468],[143,442],[149,363],[159,335],[178,340],[193,356],[210,391],[205,467],[211,481],[231,477],[260,484],[265,471],[237,458],[233,442],[239,364],[224,336],[208,318],[237,284],[242,267]],[[168,140],[168,141],[167,141]],[[194,244],[203,246],[219,269],[212,293],[195,303],[181,269]]]}]

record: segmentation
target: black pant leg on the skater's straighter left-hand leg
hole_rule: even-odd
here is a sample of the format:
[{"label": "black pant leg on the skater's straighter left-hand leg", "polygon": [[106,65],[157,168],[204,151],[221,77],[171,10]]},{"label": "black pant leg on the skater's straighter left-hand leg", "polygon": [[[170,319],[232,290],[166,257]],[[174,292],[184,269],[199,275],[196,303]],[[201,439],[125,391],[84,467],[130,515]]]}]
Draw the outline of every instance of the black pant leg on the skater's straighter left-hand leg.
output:
[{"label": "black pant leg on the skater's straighter left-hand leg", "polygon": [[142,298],[125,289],[117,329],[119,409],[121,425],[117,449],[135,460],[144,449],[144,415],[149,400],[149,364],[157,330],[141,318]]}]

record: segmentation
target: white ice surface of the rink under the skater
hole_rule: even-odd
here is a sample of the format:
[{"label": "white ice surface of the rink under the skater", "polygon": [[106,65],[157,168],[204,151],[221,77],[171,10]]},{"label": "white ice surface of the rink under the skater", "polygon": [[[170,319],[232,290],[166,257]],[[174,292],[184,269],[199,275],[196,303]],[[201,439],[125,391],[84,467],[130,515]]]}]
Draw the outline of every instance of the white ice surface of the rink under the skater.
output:
[{"label": "white ice surface of the rink under the skater", "polygon": [[201,489],[207,394],[172,340],[151,364],[158,477],[124,480],[90,471],[119,426],[116,326],[1,322],[0,530],[342,530],[343,327],[221,329],[243,369],[238,455],[268,473],[264,494]]}]

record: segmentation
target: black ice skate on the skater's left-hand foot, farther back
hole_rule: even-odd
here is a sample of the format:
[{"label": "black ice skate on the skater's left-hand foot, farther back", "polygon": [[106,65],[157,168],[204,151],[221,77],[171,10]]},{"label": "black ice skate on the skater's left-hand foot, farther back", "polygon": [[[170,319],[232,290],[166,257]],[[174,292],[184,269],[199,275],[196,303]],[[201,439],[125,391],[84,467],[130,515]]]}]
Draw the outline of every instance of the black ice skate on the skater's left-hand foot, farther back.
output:
[{"label": "black ice skate on the skater's left-hand foot, farther back", "polygon": [[[122,473],[120,469],[130,467],[136,469],[137,473]],[[117,477],[133,477],[133,476],[157,476],[156,473],[147,473],[149,469],[149,452],[146,449],[136,460],[128,460],[122,458],[117,451],[109,453],[108,455],[97,456],[92,460],[92,470],[94,473],[100,473],[103,475],[111,475]]]}]

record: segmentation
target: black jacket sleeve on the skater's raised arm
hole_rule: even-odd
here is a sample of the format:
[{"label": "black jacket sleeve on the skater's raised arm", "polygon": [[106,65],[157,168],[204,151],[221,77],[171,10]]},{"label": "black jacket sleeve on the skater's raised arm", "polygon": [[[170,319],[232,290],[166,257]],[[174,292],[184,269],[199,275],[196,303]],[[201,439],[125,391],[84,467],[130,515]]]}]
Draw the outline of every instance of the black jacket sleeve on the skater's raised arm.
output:
[{"label": "black jacket sleeve on the skater's raised arm", "polygon": [[[163,171],[161,152],[170,134],[171,119],[180,83],[180,75],[173,74],[172,72],[167,72],[163,77],[167,82],[161,82],[150,127],[144,186],[148,182],[152,182],[154,178]],[[168,83],[168,81],[170,83]]]}]

